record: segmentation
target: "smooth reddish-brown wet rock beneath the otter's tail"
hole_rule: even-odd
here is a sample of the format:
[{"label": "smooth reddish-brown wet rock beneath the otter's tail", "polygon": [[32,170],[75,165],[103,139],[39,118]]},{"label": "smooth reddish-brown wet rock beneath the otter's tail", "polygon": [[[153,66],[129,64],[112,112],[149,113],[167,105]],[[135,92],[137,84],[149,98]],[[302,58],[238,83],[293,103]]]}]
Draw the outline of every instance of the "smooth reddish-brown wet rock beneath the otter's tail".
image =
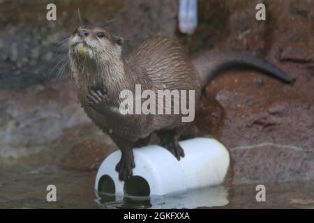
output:
[{"label": "smooth reddish-brown wet rock beneath the otter's tail", "polygon": [[[290,65],[291,66],[291,65]],[[294,68],[299,66],[293,66]],[[293,70],[293,69],[292,69]],[[262,86],[254,84],[257,72],[230,71],[207,86],[205,105],[216,100],[223,109],[216,123],[210,109],[200,113],[203,130],[214,130],[214,137],[230,150],[232,183],[263,183],[311,180],[314,174],[313,78],[298,68],[294,86],[269,77]],[[234,80],[237,79],[237,82]],[[202,125],[204,121],[211,129]]]}]

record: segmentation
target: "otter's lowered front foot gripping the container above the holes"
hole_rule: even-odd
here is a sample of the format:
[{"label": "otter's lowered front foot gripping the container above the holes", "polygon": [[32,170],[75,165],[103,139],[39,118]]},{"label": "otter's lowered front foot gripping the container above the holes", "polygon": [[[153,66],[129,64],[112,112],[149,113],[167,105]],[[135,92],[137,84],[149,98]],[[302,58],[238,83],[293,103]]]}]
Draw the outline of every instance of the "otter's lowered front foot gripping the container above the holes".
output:
[{"label": "otter's lowered front foot gripping the container above the holes", "polygon": [[122,153],[121,159],[116,165],[116,171],[119,173],[119,180],[126,180],[133,176],[132,169],[135,167],[133,152]]}]

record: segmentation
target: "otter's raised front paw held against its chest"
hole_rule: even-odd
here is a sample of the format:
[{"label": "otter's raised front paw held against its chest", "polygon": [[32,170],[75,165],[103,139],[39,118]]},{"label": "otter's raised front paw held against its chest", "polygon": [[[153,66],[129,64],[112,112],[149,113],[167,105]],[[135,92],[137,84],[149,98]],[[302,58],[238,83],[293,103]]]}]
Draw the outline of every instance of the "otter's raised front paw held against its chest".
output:
[{"label": "otter's raised front paw held against its chest", "polygon": [[105,105],[108,102],[105,90],[98,87],[91,87],[87,93],[87,103],[90,107],[95,109],[97,112],[105,112]]}]

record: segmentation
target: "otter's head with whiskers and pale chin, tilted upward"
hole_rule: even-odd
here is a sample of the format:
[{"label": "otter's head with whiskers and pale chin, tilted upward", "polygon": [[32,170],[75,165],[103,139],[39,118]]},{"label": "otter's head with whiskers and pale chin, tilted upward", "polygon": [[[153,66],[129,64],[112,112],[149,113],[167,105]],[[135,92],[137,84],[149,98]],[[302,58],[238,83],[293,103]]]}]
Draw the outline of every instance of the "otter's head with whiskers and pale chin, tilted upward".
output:
[{"label": "otter's head with whiskers and pale chin, tilted upward", "polygon": [[91,59],[97,63],[121,59],[124,40],[102,28],[77,28],[69,39],[71,61]]}]

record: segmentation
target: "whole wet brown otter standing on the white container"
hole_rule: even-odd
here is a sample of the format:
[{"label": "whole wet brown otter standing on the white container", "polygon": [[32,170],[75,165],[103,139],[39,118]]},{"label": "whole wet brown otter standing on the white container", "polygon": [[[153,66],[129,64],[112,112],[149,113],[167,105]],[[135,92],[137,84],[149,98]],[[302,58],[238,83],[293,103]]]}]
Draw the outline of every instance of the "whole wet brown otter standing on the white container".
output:
[{"label": "whole wet brown otter standing on the white container", "polygon": [[[133,147],[144,146],[155,132],[160,146],[167,148],[177,160],[184,157],[179,137],[189,123],[181,114],[126,114],[119,112],[124,89],[194,90],[195,107],[202,89],[222,70],[248,67],[262,70],[283,82],[294,79],[271,63],[246,52],[219,52],[207,55],[207,66],[199,73],[177,40],[155,36],[144,40],[124,58],[124,39],[102,28],[80,26],[69,39],[70,70],[77,86],[77,95],[87,116],[110,135],[121,150],[116,166],[119,179],[126,180],[135,167]],[[189,100],[189,99],[187,99]]]}]

